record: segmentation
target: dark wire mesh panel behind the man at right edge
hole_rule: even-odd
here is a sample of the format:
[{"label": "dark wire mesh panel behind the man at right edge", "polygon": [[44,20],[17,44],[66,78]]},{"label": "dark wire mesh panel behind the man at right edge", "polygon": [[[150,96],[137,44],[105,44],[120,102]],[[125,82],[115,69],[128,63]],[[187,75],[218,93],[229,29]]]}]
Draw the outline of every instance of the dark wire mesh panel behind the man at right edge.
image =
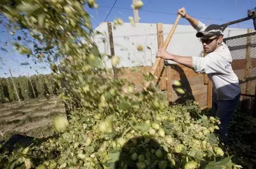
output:
[{"label": "dark wire mesh panel behind the man at right edge", "polygon": [[232,56],[232,69],[241,87],[243,112],[256,116],[256,32],[223,39]]}]

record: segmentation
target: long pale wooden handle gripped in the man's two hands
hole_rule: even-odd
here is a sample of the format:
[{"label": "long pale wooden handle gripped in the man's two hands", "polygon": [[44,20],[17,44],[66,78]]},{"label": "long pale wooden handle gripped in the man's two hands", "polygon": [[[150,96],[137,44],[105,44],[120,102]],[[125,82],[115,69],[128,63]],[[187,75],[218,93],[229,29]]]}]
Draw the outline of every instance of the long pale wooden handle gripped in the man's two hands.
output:
[{"label": "long pale wooden handle gripped in the man's two hands", "polygon": [[[172,26],[172,29],[170,30],[170,33],[169,33],[168,37],[166,38],[166,41],[164,42],[164,46],[163,46],[162,49],[166,49],[166,48],[168,47],[168,45],[169,45],[169,43],[170,43],[170,40],[172,39],[172,35],[173,35],[173,33],[174,33],[174,31],[175,31],[177,25],[178,25],[178,22],[179,22],[180,18],[181,18],[181,15],[178,15],[176,21],[174,22],[174,25]],[[150,73],[151,73],[153,76],[154,76],[155,73],[156,73],[156,69],[157,69],[157,67],[158,67],[158,65],[159,65],[159,63],[160,63],[160,61],[161,61],[161,59],[162,59],[162,58],[160,58],[160,57],[156,58],[156,61],[155,61],[154,65],[153,65],[153,67],[152,67],[152,69],[151,69],[151,71],[150,71]]]}]

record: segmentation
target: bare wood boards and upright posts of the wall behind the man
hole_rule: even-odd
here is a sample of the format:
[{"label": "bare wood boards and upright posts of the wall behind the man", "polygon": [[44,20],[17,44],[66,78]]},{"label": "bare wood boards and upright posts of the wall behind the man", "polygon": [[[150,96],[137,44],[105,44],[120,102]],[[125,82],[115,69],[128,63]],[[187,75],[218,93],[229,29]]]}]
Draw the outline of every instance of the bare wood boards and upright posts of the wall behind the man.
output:
[{"label": "bare wood boards and upright posts of the wall behind the man", "polygon": [[[110,27],[108,29],[111,29]],[[109,34],[112,36],[112,34]],[[111,39],[111,37],[110,37]],[[163,25],[157,24],[157,40],[158,49],[164,44],[163,38]],[[110,45],[110,48],[114,50],[114,45]],[[111,54],[113,56],[113,54]],[[135,90],[141,91],[143,84],[143,75],[150,72],[152,66],[136,67],[123,67],[115,68],[118,79],[127,79],[128,82],[135,84]],[[168,101],[172,103],[185,103],[186,100],[195,100],[199,103],[199,106],[211,108],[212,105],[212,83],[208,80],[208,77],[203,74],[195,73],[192,69],[185,67],[181,64],[164,64],[164,59],[161,60],[158,69],[156,70],[155,79],[156,86],[163,92],[167,92]],[[168,80],[166,81],[166,77]],[[181,88],[185,90],[185,94],[179,94],[174,90],[174,80],[180,81]]]}]

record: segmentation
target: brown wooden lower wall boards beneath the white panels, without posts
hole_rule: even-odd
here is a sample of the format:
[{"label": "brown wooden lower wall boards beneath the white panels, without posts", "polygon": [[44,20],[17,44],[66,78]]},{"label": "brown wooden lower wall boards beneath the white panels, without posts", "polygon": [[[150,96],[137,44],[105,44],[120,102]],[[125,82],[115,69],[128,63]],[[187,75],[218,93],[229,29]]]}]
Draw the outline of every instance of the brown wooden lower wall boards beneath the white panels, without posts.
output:
[{"label": "brown wooden lower wall boards beneath the white panels, without posts", "polygon": [[[136,71],[134,71],[134,69],[136,69]],[[118,78],[127,79],[129,82],[135,84],[136,91],[141,91],[143,75],[151,69],[152,66],[118,68]],[[204,76],[202,74],[194,73],[192,69],[179,64],[166,65],[165,71],[166,77],[168,78],[168,81],[166,81],[166,92],[170,103],[175,102],[180,97],[177,97],[176,92],[173,90],[173,80],[180,80],[183,85],[182,88],[188,92],[189,97],[186,96],[186,98],[192,98],[193,96],[194,100],[200,103],[200,107],[206,106],[207,102],[211,102],[207,101],[211,99],[211,97],[207,99],[208,85],[211,85],[211,83],[204,85]],[[157,81],[157,79],[155,81]],[[210,86],[210,88],[212,88],[212,86]],[[212,95],[210,92],[208,93],[209,96]],[[182,99],[180,99],[180,101],[182,101]]]}]

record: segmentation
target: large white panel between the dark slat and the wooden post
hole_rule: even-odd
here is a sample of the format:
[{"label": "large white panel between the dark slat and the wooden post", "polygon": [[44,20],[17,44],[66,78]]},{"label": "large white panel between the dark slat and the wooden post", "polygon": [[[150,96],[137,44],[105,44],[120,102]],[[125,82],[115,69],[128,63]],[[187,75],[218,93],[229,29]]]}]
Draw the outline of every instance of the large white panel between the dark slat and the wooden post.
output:
[{"label": "large white panel between the dark slat and the wooden post", "polygon": [[[156,26],[154,24],[125,23],[113,29],[115,55],[120,57],[118,67],[152,65],[157,49]],[[138,51],[142,45],[144,50]]]}]

